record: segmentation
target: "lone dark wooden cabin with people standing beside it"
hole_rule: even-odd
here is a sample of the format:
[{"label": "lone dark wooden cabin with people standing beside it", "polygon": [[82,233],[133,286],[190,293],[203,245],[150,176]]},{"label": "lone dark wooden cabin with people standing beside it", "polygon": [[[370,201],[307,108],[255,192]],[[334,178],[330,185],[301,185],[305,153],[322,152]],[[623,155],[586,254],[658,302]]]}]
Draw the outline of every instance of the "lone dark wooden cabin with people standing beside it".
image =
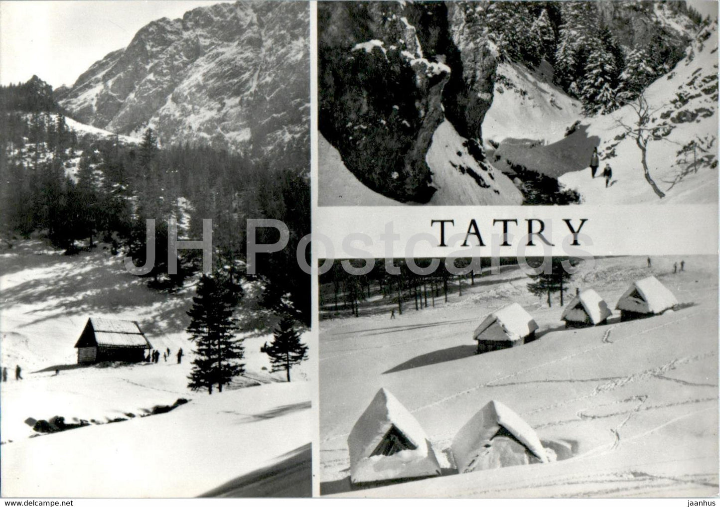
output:
[{"label": "lone dark wooden cabin with people standing beside it", "polygon": [[141,362],[145,349],[152,349],[148,338],[132,320],[91,317],[78,338],[78,364],[101,361]]}]

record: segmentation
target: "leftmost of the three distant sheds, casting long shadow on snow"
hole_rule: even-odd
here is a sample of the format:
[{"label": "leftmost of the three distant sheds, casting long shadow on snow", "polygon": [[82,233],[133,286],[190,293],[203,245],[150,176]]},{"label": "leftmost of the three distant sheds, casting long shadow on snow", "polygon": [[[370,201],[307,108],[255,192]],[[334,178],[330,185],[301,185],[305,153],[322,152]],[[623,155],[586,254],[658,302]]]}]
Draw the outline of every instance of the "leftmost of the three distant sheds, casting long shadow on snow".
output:
[{"label": "leftmost of the three distant sheds, casting long shadow on snow", "polygon": [[477,354],[507,349],[535,339],[538,325],[525,308],[513,304],[487,315],[472,337],[477,340]]}]

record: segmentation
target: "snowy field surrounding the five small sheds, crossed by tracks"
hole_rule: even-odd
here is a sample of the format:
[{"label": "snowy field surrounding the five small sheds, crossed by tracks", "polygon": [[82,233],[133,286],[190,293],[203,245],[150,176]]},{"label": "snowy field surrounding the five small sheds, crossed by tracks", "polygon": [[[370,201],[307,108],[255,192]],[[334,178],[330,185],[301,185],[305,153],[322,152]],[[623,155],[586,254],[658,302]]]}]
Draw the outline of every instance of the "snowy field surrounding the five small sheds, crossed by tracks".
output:
[{"label": "snowy field surrounding the five small sheds, crossed by tracks", "polygon": [[[593,288],[610,308],[630,282],[653,274],[680,308],[608,325],[564,329],[530,295],[519,268],[476,278],[436,308],[320,324],[321,493],[395,496],[705,496],[718,493],[718,283],[714,256],[595,259],[568,290]],[[475,355],[472,331],[519,302],[540,338]],[[377,390],[410,410],[433,444],[443,477],[351,490],[347,438]],[[557,462],[454,475],[446,450],[490,400],[516,411]]]}]

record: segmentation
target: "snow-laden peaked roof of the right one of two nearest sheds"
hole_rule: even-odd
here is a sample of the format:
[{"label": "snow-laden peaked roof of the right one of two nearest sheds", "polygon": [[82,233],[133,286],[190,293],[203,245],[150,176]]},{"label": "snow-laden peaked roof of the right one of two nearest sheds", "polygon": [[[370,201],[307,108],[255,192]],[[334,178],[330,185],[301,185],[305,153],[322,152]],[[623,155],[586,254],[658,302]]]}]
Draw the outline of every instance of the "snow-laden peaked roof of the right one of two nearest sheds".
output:
[{"label": "snow-laden peaked roof of the right one of two nearest sheds", "polygon": [[535,430],[503,403],[492,400],[472,416],[455,435],[451,450],[457,470],[461,473],[472,472],[477,457],[487,452],[490,441],[502,429],[508,431],[541,462],[547,462]]}]

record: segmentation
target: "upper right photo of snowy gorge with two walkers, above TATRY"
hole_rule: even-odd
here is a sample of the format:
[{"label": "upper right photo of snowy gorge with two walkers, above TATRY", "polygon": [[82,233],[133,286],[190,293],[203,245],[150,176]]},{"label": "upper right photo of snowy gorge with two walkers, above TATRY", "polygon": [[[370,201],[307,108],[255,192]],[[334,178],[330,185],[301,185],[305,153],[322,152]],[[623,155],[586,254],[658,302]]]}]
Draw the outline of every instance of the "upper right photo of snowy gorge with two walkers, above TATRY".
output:
[{"label": "upper right photo of snowy gorge with two walkers, above TATRY", "polygon": [[320,1],[318,205],[715,204],[716,1]]}]

